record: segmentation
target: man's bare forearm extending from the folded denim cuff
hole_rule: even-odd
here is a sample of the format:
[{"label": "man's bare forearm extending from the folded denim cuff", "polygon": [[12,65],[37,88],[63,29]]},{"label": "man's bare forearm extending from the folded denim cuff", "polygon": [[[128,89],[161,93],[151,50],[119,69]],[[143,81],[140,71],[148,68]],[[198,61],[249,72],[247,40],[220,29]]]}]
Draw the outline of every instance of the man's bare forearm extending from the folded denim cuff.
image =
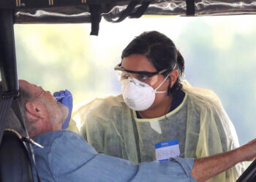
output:
[{"label": "man's bare forearm extending from the folded denim cuff", "polygon": [[197,181],[206,181],[209,178],[230,169],[238,162],[249,161],[256,157],[256,139],[244,146],[217,154],[211,157],[195,159],[191,175]]}]

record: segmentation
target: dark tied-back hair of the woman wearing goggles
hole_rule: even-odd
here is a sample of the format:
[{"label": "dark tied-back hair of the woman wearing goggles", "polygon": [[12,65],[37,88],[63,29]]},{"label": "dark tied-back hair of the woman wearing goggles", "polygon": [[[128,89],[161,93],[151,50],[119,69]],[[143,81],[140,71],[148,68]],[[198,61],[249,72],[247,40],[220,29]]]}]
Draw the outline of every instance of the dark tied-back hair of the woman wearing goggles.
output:
[{"label": "dark tied-back hair of the woman wearing goggles", "polygon": [[[145,55],[157,71],[166,68],[172,71],[176,65],[175,69],[178,70],[179,76],[184,73],[184,58],[181,53],[178,52],[173,41],[158,31],[143,32],[140,36],[136,36],[123,50],[121,59],[134,54]],[[163,75],[167,76],[170,71],[163,73]],[[167,94],[173,94],[181,88],[182,85],[178,77],[173,87],[170,87],[169,84]]]}]

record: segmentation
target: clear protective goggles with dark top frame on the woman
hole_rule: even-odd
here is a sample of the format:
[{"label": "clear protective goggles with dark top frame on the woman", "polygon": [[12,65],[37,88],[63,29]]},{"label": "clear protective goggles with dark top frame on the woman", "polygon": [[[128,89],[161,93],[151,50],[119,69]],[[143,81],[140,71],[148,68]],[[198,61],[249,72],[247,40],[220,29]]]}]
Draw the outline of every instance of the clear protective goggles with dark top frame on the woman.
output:
[{"label": "clear protective goggles with dark top frame on the woman", "polygon": [[[149,87],[157,83],[159,74],[165,73],[169,69],[162,71],[130,71],[120,67],[118,64],[114,70],[116,71],[117,79],[121,82],[124,79],[129,79],[129,82],[134,82],[138,87]],[[138,82],[140,81],[140,82]]]}]

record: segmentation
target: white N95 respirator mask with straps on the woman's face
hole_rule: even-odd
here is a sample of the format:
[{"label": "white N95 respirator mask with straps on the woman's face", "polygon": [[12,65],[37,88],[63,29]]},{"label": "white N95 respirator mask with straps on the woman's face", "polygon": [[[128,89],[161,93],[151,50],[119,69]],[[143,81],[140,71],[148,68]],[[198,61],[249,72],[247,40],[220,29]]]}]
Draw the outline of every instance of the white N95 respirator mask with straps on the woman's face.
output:
[{"label": "white N95 respirator mask with straps on the woman's face", "polygon": [[124,102],[129,108],[135,111],[145,111],[152,106],[156,98],[156,93],[167,92],[161,91],[157,92],[157,89],[165,82],[169,75],[166,76],[164,81],[159,84],[159,86],[154,90],[148,84],[140,82],[138,79],[129,77],[121,81],[121,87],[123,92]]}]

